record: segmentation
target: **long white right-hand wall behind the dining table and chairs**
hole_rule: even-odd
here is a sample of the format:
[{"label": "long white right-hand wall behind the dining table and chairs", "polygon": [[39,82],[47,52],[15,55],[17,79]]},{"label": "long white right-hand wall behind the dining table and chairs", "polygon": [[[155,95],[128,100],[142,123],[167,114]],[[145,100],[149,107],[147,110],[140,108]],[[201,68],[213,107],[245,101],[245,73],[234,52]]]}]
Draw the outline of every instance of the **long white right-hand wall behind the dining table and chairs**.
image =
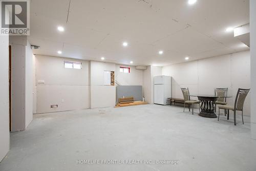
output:
[{"label": "long white right-hand wall behind the dining table and chairs", "polygon": [[[180,88],[190,94],[214,94],[214,88],[228,88],[229,104],[234,103],[238,88],[250,88],[250,52],[244,51],[163,67],[163,75],[172,76],[172,96],[183,98]],[[250,94],[244,104],[250,115]]]}]

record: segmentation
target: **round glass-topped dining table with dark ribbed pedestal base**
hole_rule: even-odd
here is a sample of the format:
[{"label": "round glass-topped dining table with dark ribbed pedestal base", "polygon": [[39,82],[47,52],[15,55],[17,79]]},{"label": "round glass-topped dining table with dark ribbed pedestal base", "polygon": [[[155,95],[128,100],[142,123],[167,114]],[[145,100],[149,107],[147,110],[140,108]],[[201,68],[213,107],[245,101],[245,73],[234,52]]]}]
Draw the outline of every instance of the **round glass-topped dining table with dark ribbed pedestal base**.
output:
[{"label": "round glass-topped dining table with dark ribbed pedestal base", "polygon": [[229,98],[232,96],[215,96],[215,95],[189,95],[191,97],[198,97],[200,101],[200,113],[199,116],[205,118],[217,118],[215,114],[215,102],[218,98]]}]

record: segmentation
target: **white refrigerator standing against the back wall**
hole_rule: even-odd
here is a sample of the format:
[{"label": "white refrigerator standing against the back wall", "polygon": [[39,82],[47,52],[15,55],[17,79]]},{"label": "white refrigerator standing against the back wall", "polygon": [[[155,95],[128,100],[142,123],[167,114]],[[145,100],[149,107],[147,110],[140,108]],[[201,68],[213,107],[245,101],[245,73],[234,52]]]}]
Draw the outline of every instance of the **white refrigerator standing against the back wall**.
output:
[{"label": "white refrigerator standing against the back wall", "polygon": [[167,105],[172,97],[172,77],[160,75],[154,77],[154,103]]}]

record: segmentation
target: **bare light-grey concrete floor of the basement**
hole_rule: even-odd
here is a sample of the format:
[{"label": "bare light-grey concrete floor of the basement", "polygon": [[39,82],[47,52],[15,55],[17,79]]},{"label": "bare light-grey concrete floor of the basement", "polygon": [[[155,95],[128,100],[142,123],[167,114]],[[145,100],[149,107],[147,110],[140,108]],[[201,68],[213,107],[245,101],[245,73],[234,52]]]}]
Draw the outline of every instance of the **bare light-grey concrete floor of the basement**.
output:
[{"label": "bare light-grey concrete floor of the basement", "polygon": [[[198,112],[198,111],[196,111]],[[250,124],[233,125],[140,105],[34,115],[11,134],[0,170],[251,170]],[[179,164],[77,164],[77,160],[179,160]]]}]

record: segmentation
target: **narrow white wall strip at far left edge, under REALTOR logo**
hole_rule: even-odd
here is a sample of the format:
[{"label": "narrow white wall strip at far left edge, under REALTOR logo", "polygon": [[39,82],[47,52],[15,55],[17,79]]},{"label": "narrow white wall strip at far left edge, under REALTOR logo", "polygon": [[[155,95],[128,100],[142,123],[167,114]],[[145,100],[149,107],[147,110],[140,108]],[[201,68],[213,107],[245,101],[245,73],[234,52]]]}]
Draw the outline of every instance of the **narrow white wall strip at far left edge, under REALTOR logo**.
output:
[{"label": "narrow white wall strip at far left edge, under REALTOR logo", "polygon": [[0,36],[0,162],[9,151],[9,36]]}]

